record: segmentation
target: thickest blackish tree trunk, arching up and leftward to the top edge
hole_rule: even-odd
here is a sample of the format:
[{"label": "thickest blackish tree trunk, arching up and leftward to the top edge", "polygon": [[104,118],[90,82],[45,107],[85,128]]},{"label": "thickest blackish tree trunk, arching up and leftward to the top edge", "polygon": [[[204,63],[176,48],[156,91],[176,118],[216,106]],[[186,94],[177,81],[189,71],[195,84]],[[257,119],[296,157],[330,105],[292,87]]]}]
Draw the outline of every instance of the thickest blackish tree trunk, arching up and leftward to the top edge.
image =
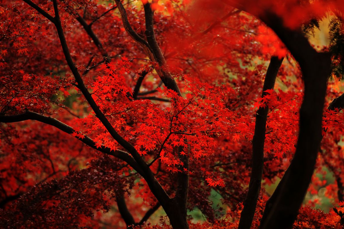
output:
[{"label": "thickest blackish tree trunk, arching up and leftward to the top edge", "polygon": [[[318,53],[303,36],[300,28],[292,30],[283,24],[283,19],[270,9],[254,12],[245,1],[224,1],[238,9],[251,13],[270,27],[286,45],[299,63],[304,82],[304,96],[300,108],[299,136],[294,157],[269,198],[261,229],[289,229],[301,207],[315,168],[322,139],[323,106],[327,79],[331,74],[331,54]],[[252,9],[252,8],[251,8]]]}]

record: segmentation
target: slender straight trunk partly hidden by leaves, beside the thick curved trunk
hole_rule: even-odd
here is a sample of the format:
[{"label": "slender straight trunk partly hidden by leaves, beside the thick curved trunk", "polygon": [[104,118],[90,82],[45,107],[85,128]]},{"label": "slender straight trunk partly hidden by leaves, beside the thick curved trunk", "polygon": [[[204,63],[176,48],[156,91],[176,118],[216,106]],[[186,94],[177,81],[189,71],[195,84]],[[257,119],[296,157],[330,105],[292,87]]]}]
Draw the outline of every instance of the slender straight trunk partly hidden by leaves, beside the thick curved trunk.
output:
[{"label": "slender straight trunk partly hidden by leaves, beside the thick curved trunk", "polygon": [[[268,70],[265,75],[263,98],[267,93],[266,90],[273,89],[279,68],[281,67],[283,58],[272,56]],[[250,183],[248,186],[247,196],[244,202],[244,209],[241,211],[238,229],[249,229],[255,214],[257,199],[260,192],[262,173],[264,168],[264,141],[266,132],[266,119],[269,107],[259,107],[256,113],[255,132],[252,140],[252,170]]]}]

